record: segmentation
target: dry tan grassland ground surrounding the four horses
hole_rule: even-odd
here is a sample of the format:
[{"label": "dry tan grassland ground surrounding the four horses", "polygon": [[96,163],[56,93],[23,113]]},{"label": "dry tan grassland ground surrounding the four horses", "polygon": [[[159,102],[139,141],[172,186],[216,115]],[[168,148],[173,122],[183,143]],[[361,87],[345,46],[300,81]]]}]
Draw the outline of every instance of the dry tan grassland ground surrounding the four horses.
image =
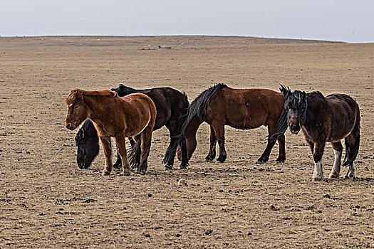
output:
[{"label": "dry tan grassland ground surrounding the four horses", "polygon": [[[0,248],[374,248],[373,72],[373,43],[0,38]],[[266,127],[227,127],[227,161],[206,163],[207,124],[186,171],[163,170],[166,128],[153,135],[145,176],[100,176],[102,151],[80,170],[76,131],[64,127],[64,99],[73,88],[119,83],[171,86],[190,101],[215,83],[344,92],[362,115],[358,181],[344,179],[343,168],[336,181],[312,182],[310,149],[302,134],[290,132],[286,163],[275,163],[276,145],[269,163],[254,164],[266,147]],[[332,164],[328,144],[325,177]]]}]

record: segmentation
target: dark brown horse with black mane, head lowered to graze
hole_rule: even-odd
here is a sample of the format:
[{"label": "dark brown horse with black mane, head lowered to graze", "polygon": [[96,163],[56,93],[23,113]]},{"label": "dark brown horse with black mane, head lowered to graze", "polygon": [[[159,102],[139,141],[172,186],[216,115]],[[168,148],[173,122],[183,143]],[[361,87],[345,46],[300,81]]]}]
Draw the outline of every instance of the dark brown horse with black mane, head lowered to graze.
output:
[{"label": "dark brown horse with black mane, head lowered to graze", "polygon": [[[196,132],[202,122],[210,125],[210,149],[206,157],[212,161],[216,157],[216,143],[219,144],[217,161],[224,162],[227,153],[224,148],[224,126],[237,129],[254,129],[261,125],[268,127],[269,136],[274,134],[276,124],[283,109],[283,97],[279,92],[268,89],[233,89],[224,84],[214,85],[202,92],[190,105],[185,131],[187,157],[190,159],[196,149]],[[285,139],[279,137],[279,157],[286,159]],[[269,160],[269,154],[276,139],[268,139],[264,153],[258,163]]]}]

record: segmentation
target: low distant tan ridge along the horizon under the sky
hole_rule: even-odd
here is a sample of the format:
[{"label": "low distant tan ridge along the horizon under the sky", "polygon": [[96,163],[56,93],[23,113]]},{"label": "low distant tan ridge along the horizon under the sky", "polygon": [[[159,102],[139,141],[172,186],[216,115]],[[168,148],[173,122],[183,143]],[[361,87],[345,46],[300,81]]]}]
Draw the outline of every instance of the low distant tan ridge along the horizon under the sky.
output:
[{"label": "low distant tan ridge along the horizon under the sky", "polygon": [[344,43],[342,41],[260,38],[254,36],[15,36],[0,37],[2,47],[13,46],[171,46]]}]

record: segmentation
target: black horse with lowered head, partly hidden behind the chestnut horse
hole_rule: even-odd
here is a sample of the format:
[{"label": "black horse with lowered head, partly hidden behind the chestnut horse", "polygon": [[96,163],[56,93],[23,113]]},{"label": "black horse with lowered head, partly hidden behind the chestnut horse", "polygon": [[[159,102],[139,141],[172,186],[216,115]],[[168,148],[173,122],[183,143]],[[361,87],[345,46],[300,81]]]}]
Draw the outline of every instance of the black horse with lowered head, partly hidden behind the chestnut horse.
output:
[{"label": "black horse with lowered head, partly hidden behind the chestnut horse", "polygon": [[[113,88],[115,92],[118,92],[120,97],[129,95],[135,92],[141,92],[150,97],[157,109],[157,116],[155,121],[155,127],[153,130],[160,129],[165,125],[170,132],[170,144],[167,147],[165,158],[163,163],[165,169],[172,169],[175,159],[176,145],[180,146],[182,152],[182,162],[180,169],[185,169],[188,165],[187,159],[187,147],[186,140],[183,134],[181,134],[182,124],[185,122],[185,118],[189,109],[189,102],[185,92],[180,92],[173,88],[152,88],[145,90],[137,90],[134,88],[126,87],[120,84],[118,88]],[[178,139],[182,136],[182,139]],[[175,143],[178,142],[179,144]],[[130,143],[133,146],[135,142],[130,139]],[[83,126],[79,129],[76,134],[76,147],[77,147],[77,163],[80,169],[88,169],[93,159],[98,155],[98,134],[90,120],[86,120]],[[113,165],[116,168],[121,168],[122,163],[120,156],[117,156],[117,161]]]}]

